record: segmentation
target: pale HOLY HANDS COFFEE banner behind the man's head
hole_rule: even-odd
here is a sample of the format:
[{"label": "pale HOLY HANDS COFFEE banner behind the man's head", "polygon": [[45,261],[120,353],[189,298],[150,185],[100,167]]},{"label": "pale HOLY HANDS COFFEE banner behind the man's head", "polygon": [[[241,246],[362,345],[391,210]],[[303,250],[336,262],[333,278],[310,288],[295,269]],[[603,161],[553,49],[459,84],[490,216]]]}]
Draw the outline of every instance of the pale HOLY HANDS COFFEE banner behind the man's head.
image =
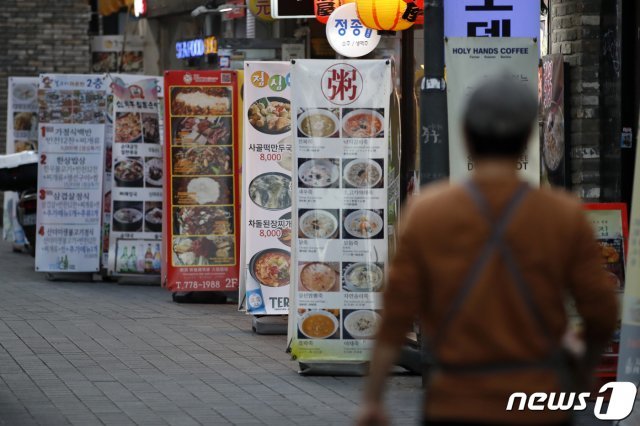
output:
[{"label": "pale HOLY HANDS COFFEE banner behind the man's head", "polygon": [[[538,44],[531,38],[449,38],[446,42],[447,102],[449,111],[449,163],[451,178],[464,180],[473,170],[473,160],[464,146],[462,114],[473,90],[490,76],[507,72],[535,95],[538,88]],[[436,130],[423,132],[423,143],[439,143]],[[522,178],[540,183],[538,126],[526,154],[518,162]]]}]

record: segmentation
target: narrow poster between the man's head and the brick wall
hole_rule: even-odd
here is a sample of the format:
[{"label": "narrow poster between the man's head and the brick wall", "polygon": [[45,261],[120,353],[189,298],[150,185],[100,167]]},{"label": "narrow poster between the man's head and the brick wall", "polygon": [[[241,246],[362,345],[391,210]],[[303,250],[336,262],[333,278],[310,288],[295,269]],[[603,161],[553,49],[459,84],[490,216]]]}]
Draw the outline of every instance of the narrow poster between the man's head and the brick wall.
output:
[{"label": "narrow poster between the man's head and the brick wall", "polygon": [[542,58],[540,164],[543,184],[568,187],[563,58],[560,53]]}]

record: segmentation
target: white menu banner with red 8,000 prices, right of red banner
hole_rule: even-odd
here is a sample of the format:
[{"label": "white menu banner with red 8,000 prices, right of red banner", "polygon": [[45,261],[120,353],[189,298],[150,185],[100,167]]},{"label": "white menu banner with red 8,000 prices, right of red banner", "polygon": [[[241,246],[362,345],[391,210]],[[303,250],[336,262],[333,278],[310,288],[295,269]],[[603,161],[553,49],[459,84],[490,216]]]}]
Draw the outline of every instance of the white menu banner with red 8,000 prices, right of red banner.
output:
[{"label": "white menu banner with red 8,000 prices, right of red banner", "polygon": [[289,62],[245,62],[242,278],[251,314],[288,314],[291,267]]}]

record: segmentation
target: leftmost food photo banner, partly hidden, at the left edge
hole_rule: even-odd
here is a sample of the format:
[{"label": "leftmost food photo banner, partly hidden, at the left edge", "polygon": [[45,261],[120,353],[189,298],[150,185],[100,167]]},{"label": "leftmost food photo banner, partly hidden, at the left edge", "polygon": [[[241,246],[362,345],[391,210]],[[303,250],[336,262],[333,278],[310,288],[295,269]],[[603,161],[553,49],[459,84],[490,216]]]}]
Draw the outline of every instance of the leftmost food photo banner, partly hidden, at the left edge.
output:
[{"label": "leftmost food photo banner, partly hidden, at the left edge", "polygon": [[[9,77],[7,89],[7,154],[37,151],[38,77]],[[4,193],[2,232],[5,240],[22,246],[25,238],[16,218],[17,203],[17,193]],[[33,219],[35,220],[35,217]]]}]

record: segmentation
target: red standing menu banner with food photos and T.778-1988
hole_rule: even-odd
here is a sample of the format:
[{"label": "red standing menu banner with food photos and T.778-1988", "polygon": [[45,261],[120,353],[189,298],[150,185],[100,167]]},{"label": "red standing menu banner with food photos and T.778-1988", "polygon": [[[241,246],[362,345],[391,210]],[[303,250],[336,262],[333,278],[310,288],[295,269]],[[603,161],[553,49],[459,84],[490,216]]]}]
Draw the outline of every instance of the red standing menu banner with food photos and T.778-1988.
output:
[{"label": "red standing menu banner with food photos and T.778-1988", "polygon": [[163,285],[238,290],[239,99],[233,71],[165,74]]}]

